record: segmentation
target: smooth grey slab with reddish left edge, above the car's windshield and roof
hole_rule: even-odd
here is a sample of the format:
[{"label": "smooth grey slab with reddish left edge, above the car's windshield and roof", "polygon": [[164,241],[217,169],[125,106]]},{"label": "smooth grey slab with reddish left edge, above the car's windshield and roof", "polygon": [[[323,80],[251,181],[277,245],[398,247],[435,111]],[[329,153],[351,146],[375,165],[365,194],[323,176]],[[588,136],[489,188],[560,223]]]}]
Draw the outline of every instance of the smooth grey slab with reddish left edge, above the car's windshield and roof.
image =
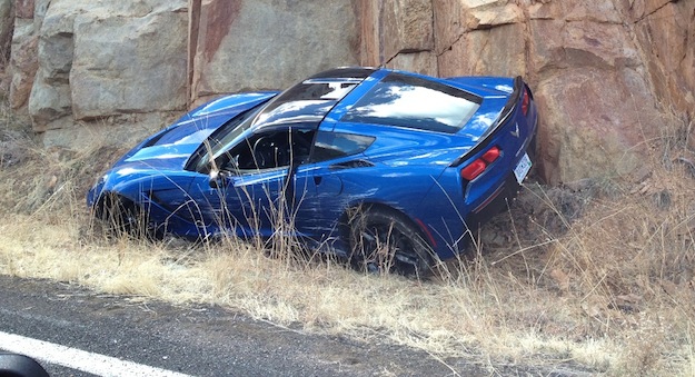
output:
[{"label": "smooth grey slab with reddish left edge, above the car's windshield and roof", "polygon": [[192,0],[192,99],[244,89],[281,89],[358,63],[351,0]]}]

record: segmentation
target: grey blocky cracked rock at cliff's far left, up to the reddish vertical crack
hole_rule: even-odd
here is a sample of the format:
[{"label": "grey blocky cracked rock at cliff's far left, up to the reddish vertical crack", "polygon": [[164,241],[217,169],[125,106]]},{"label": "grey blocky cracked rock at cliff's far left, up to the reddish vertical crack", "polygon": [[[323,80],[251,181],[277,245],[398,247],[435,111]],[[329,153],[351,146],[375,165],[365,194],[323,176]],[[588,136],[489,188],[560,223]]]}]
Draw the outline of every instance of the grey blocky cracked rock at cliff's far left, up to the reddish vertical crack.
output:
[{"label": "grey blocky cracked rock at cliff's far left, up to the reddish vertical crack", "polygon": [[14,7],[8,101],[47,145],[133,142],[186,109],[186,0]]}]

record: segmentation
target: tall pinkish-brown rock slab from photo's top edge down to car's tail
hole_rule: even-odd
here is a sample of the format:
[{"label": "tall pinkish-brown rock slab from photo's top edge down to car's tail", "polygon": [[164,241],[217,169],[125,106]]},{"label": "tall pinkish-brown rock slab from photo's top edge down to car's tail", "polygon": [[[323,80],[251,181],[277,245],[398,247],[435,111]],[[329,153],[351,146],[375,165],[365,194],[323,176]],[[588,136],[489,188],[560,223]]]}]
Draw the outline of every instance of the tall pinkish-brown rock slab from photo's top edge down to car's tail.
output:
[{"label": "tall pinkish-brown rock slab from photo's top edge down to car's tail", "polygon": [[536,4],[528,29],[546,180],[635,171],[663,117],[639,46],[617,9],[606,2]]}]

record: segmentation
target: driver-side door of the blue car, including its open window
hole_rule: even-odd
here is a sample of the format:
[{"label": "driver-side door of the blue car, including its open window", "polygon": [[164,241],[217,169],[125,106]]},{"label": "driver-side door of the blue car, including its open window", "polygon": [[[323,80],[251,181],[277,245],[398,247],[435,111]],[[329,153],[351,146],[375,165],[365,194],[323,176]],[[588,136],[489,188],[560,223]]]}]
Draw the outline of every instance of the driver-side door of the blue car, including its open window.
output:
[{"label": "driver-side door of the blue car, including its open window", "polygon": [[294,232],[294,186],[288,176],[308,161],[316,123],[287,123],[251,133],[219,155],[225,228],[244,237]]}]

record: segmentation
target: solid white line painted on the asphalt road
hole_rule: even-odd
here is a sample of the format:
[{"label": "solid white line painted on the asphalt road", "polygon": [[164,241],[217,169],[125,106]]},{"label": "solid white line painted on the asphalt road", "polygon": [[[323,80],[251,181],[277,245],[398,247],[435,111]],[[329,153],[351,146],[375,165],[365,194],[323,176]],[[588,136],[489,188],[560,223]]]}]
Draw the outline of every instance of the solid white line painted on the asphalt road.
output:
[{"label": "solid white line painted on the asphalt road", "polygon": [[3,331],[0,331],[0,349],[98,376],[188,376]]}]

